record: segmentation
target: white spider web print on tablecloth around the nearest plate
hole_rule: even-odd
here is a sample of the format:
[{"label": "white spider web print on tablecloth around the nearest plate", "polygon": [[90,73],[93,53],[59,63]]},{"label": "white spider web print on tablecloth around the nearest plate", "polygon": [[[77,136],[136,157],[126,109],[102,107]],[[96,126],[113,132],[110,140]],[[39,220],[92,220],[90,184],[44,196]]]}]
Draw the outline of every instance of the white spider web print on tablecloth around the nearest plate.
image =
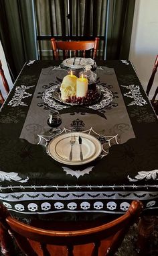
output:
[{"label": "white spider web print on tablecloth around the nearest plate", "polygon": [[[60,132],[60,134],[64,134],[64,133],[66,134],[68,132],[72,132],[72,131],[64,127],[62,132]],[[97,132],[95,132],[92,127],[88,130],[82,131],[82,133],[87,133],[98,138],[98,140],[102,144],[102,153],[99,156],[101,158],[108,155],[109,148],[112,145],[118,144],[118,140],[117,140],[118,134],[113,136],[104,136],[102,134],[98,134]],[[39,136],[39,142],[37,144],[42,144],[43,146],[48,146],[48,143],[50,142],[50,140],[56,137],[53,135],[40,135],[40,134],[37,134],[37,136]]]}]

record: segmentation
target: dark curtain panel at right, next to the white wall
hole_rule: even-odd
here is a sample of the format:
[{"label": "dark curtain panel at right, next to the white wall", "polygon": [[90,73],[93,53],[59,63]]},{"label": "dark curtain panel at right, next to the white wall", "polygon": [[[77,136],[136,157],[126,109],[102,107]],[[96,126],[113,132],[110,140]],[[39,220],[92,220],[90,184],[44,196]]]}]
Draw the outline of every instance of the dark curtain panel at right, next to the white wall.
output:
[{"label": "dark curtain panel at right, next to the white wall", "polygon": [[106,59],[128,59],[135,0],[108,0]]}]

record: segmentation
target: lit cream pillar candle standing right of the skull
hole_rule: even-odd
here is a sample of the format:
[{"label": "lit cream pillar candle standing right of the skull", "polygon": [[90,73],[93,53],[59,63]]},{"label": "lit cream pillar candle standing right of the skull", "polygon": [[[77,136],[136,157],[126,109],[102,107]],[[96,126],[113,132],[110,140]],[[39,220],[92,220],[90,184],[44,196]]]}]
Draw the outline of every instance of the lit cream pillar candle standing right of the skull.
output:
[{"label": "lit cream pillar candle standing right of the skull", "polygon": [[83,77],[76,80],[76,97],[85,97],[88,91],[88,80]]}]

